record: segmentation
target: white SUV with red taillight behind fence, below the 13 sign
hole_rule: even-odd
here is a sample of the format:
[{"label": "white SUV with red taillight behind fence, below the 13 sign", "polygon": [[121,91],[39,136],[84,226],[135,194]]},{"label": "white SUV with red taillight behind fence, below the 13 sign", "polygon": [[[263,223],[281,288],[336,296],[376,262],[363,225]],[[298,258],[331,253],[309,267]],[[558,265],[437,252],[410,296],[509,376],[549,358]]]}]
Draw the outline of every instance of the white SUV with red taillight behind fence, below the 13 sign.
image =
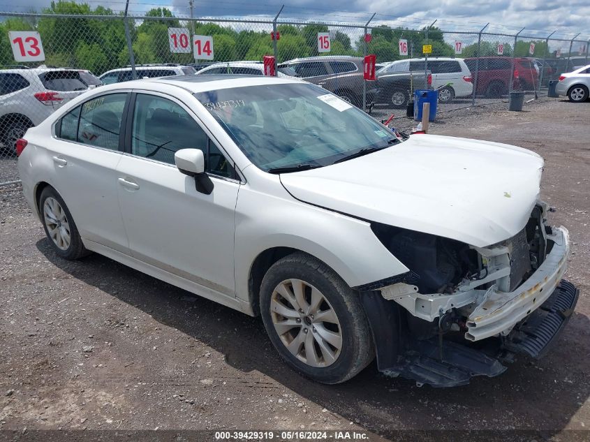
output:
[{"label": "white SUV with red taillight behind fence, below the 13 sign", "polygon": [[67,68],[0,70],[0,154],[13,154],[27,129],[91,87],[101,84],[89,71]]}]

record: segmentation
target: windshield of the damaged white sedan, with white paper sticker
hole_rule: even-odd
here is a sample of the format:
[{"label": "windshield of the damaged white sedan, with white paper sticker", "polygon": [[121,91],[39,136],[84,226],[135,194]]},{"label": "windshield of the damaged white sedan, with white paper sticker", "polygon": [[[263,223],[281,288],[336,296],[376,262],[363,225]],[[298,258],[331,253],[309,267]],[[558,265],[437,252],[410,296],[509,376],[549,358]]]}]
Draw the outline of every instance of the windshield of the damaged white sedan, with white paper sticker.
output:
[{"label": "windshield of the damaged white sedan, with white paper sticker", "polygon": [[195,96],[267,172],[330,165],[397,142],[388,128],[314,84],[235,87]]}]

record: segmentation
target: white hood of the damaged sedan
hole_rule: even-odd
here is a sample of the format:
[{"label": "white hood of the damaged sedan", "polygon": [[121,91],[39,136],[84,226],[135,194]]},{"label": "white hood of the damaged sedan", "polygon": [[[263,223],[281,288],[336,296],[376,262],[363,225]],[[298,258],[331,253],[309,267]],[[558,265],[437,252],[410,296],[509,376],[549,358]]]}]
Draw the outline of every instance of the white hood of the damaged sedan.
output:
[{"label": "white hood of the damaged sedan", "polygon": [[312,205],[482,247],[524,228],[542,172],[543,159],[520,147],[412,135],[373,154],[282,174],[281,183]]}]

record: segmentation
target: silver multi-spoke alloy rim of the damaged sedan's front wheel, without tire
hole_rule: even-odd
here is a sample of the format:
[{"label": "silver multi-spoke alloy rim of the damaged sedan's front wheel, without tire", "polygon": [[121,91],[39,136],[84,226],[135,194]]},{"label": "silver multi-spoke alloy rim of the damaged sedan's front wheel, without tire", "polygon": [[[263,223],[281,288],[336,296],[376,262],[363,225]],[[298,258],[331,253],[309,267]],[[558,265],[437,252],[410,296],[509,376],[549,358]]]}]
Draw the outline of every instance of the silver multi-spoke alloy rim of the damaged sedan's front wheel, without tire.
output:
[{"label": "silver multi-spoke alloy rim of the damaged sedan's front wheel, without tire", "polygon": [[300,279],[282,281],[272,292],[274,330],[295,358],[311,367],[328,367],[342,349],[342,328],[325,296]]}]

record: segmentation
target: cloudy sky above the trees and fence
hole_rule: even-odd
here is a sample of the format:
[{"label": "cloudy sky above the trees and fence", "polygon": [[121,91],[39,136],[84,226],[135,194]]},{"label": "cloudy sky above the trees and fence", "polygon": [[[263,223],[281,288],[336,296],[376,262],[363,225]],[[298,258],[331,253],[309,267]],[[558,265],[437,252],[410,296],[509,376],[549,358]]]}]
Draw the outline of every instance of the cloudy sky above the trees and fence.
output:
[{"label": "cloudy sky above the trees and fence", "polygon": [[[125,5],[124,0],[86,3],[113,10],[123,10]],[[40,10],[49,4],[50,0],[0,0],[0,11]],[[578,32],[590,38],[590,0],[194,0],[193,4],[196,17],[274,16],[285,4],[281,18],[364,23],[377,13],[374,24],[421,28],[438,19],[443,29],[472,31],[489,22],[490,30],[507,34],[526,27],[531,36],[557,31],[555,35],[561,38],[572,38]],[[189,16],[188,5],[189,0],[130,0],[129,10],[142,15],[150,8],[166,6],[177,15]]]}]

